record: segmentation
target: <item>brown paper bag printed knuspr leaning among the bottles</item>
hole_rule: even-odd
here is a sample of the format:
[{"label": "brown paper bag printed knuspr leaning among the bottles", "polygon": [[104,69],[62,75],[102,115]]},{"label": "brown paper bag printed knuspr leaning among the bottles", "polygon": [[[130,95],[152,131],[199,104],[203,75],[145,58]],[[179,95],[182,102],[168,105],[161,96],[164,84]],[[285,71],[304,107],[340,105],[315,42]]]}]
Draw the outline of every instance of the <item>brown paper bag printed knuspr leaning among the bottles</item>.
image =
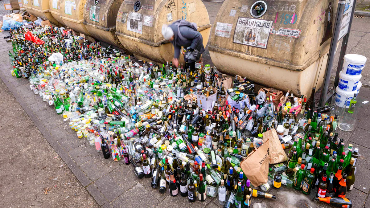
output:
[{"label": "brown paper bag printed knuspr leaning among the bottles", "polygon": [[245,176],[253,186],[266,183],[269,175],[269,145],[267,140],[257,150],[250,152],[248,157],[240,163]]}]

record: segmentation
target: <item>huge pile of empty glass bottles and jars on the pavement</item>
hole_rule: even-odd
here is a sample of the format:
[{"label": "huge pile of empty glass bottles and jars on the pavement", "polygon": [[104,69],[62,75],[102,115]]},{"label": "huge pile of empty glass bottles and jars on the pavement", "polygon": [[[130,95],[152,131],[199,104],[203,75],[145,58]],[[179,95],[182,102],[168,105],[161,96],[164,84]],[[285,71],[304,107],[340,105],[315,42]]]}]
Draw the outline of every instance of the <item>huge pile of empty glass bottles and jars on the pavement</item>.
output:
[{"label": "huge pile of empty glass bottles and jars on the pavement", "polygon": [[[25,40],[28,30],[45,43]],[[216,68],[203,61],[195,71],[187,64],[139,64],[60,28],[21,27],[10,38],[11,73],[30,81],[34,94],[69,122],[76,139],[87,140],[107,160],[123,159],[136,177],[152,178],[151,187],[160,193],[169,190],[190,202],[218,197],[225,208],[248,208],[252,198],[276,198],[267,191],[283,184],[303,194],[316,187],[318,200],[351,206],[345,196],[353,188],[358,150],[351,144],[344,149],[336,116],[315,111],[314,89],[309,98],[287,93],[276,105],[272,96],[261,100],[246,78],[235,78],[225,89],[216,81]],[[63,60],[49,61],[57,52]],[[196,95],[213,94],[211,109],[198,106]],[[272,165],[268,182],[258,189],[240,162],[272,129],[289,160]]]}]

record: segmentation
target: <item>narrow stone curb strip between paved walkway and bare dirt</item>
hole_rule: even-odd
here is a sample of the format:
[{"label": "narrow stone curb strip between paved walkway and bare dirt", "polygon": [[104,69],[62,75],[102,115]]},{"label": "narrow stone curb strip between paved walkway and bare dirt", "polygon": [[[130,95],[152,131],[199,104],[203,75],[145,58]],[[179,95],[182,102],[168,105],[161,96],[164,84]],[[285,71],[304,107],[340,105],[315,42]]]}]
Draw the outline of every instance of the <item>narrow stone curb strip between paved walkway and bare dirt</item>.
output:
[{"label": "narrow stone curb strip between paved walkway and bare dirt", "polygon": [[[95,199],[98,205],[102,206],[107,204],[107,199],[102,200],[100,191],[89,191],[90,184],[92,183],[91,180],[85,175],[85,173],[80,169],[80,167],[73,161],[73,159],[68,155],[68,153],[58,144],[57,140],[50,134],[47,128],[44,126],[43,123],[38,119],[38,117],[33,113],[30,107],[28,107],[27,103],[23,100],[23,98],[18,94],[16,88],[9,82],[7,77],[4,75],[2,71],[0,71],[0,78],[3,80],[7,88],[10,90],[11,94],[16,98],[18,103],[21,107],[26,111],[27,115],[31,118],[31,121],[36,125],[38,130],[41,134],[46,138],[47,142],[50,146],[57,152],[57,154],[61,157],[61,159],[65,162],[67,167],[72,171],[75,175],[77,180],[81,183],[81,185],[87,189],[89,194]],[[98,200],[99,199],[99,200]],[[109,202],[108,202],[109,204]]]}]

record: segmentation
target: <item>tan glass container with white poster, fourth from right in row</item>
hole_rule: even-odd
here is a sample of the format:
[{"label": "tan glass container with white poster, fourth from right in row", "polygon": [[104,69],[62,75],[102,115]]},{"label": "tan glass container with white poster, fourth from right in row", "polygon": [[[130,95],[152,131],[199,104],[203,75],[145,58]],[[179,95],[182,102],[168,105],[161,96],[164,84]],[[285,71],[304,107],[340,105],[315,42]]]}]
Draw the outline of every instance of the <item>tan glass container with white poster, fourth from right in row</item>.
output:
[{"label": "tan glass container with white poster, fourth from right in row", "polygon": [[89,31],[84,25],[84,10],[86,0],[59,0],[60,15],[65,26],[74,31],[90,36]]}]

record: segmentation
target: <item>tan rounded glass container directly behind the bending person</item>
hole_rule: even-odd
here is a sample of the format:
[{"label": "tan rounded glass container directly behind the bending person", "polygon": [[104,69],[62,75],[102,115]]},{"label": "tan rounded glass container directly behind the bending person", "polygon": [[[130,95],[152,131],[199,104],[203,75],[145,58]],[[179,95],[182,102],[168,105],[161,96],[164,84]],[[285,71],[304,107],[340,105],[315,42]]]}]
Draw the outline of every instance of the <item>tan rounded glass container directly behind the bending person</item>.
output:
[{"label": "tan rounded glass container directly behind the bending person", "polygon": [[[124,0],[117,15],[116,34],[135,57],[162,64],[174,57],[174,48],[162,36],[162,24],[178,19],[197,23],[206,46],[211,24],[201,0]],[[183,62],[182,54],[181,59]]]}]

